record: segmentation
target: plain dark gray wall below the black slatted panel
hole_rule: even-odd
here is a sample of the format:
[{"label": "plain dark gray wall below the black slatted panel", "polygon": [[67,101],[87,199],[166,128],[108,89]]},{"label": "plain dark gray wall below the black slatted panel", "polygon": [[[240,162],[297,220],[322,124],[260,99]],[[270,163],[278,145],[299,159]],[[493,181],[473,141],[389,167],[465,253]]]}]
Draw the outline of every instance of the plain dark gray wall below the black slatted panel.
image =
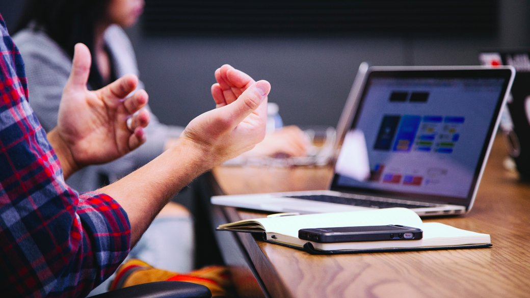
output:
[{"label": "plain dark gray wall below the black slatted panel", "polygon": [[[0,0],[12,28],[19,0]],[[275,34],[153,35],[142,24],[127,29],[140,79],[155,115],[185,126],[214,108],[210,86],[217,67],[228,63],[271,82],[285,124],[335,126],[358,65],[476,65],[483,48],[530,46],[528,0],[500,0],[498,29],[485,34],[356,32],[346,36]],[[31,95],[30,95],[31,98]]]}]

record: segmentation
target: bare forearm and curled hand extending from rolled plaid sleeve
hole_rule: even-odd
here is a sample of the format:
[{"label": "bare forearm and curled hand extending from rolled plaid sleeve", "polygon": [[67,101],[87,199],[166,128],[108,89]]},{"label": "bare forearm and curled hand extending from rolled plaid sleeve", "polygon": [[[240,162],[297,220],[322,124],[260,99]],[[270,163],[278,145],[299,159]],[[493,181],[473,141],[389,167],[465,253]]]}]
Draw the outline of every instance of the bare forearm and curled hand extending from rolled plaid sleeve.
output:
[{"label": "bare forearm and curled hand extending from rolled plaid sleeve", "polygon": [[263,140],[269,82],[254,82],[228,65],[216,71],[216,78],[212,93],[217,109],[191,120],[178,141],[156,159],[100,189],[127,212],[131,243],[179,189]]}]

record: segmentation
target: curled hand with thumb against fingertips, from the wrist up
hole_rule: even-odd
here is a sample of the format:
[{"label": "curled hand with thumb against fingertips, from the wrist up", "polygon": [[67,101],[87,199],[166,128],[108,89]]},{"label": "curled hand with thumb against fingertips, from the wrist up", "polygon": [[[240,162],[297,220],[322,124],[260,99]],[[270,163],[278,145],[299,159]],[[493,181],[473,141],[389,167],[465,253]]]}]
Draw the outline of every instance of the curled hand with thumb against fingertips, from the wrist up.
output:
[{"label": "curled hand with thumb against fingertips, from the wrist up", "polygon": [[217,108],[193,119],[180,136],[203,153],[206,168],[251,150],[263,140],[267,123],[269,82],[254,82],[229,65],[215,77],[211,93]]}]

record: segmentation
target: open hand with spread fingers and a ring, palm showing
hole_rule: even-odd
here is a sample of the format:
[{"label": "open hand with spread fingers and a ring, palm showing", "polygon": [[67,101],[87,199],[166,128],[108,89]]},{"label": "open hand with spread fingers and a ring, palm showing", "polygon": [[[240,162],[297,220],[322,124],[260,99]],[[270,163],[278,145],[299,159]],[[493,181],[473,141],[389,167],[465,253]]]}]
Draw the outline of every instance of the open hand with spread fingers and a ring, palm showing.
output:
[{"label": "open hand with spread fingers and a ring, palm showing", "polygon": [[86,83],[90,65],[89,49],[78,43],[61,98],[57,127],[48,134],[65,179],[83,166],[115,160],[146,140],[143,128],[150,116],[147,110],[140,109],[148,101],[147,93],[139,90],[125,99],[136,89],[138,78],[126,75],[100,90],[89,91]]}]

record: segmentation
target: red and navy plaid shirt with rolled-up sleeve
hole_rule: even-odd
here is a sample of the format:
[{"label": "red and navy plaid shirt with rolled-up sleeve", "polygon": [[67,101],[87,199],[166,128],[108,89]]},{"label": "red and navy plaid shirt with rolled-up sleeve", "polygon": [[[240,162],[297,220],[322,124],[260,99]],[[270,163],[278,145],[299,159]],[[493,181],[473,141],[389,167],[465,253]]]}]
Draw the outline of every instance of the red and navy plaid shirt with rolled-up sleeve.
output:
[{"label": "red and navy plaid shirt with rolled-up sleeve", "polygon": [[85,296],[127,256],[129,220],[111,197],[66,185],[2,16],[0,36],[0,296]]}]

